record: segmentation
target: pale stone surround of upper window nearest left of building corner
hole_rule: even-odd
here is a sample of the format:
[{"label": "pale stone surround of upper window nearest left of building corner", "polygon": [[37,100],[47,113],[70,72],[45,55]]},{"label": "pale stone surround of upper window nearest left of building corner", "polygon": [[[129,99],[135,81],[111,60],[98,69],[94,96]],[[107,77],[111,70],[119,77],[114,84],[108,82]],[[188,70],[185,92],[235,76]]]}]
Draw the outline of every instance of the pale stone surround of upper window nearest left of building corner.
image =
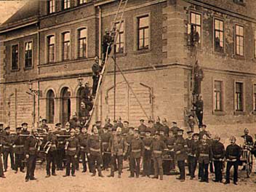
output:
[{"label": "pale stone surround of upper window nearest left of building corner", "polygon": [[[139,33],[138,33],[138,18],[144,17],[148,15],[148,19],[149,19],[149,33],[148,33],[148,48],[147,49],[138,49],[139,47]],[[133,46],[133,51],[134,52],[147,52],[151,50],[151,13],[150,12],[144,12],[141,14],[137,14],[133,16],[134,20],[133,20],[133,26],[134,26],[134,34],[136,34],[133,38],[134,38],[134,46]]]}]

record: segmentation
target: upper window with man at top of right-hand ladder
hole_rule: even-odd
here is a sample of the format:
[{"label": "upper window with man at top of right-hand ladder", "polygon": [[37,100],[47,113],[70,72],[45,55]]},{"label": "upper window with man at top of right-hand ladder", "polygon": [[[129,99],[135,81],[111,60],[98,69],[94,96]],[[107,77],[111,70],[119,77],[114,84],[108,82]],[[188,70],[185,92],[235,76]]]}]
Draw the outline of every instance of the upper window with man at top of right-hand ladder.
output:
[{"label": "upper window with man at top of right-hand ladder", "polygon": [[190,45],[194,45],[195,42],[198,42],[198,44],[201,43],[201,27],[201,15],[199,13],[190,12],[190,25],[188,26]]}]

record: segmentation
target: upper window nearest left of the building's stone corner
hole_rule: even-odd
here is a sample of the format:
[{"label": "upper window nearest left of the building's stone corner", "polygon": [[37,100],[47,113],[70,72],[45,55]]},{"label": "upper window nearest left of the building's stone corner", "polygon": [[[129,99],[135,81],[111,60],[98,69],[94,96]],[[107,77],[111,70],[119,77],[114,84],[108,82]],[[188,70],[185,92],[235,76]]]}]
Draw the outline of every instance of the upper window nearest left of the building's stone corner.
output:
[{"label": "upper window nearest left of the building's stone corner", "polygon": [[138,18],[138,49],[148,49],[149,46],[149,16]]}]

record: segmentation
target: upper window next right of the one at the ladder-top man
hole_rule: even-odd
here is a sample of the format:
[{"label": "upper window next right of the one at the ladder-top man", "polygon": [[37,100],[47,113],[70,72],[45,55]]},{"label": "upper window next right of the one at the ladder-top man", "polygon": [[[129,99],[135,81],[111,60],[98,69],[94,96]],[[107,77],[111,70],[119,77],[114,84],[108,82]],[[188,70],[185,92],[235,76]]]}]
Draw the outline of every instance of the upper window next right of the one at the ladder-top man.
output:
[{"label": "upper window next right of the one at the ladder-top man", "polygon": [[223,52],[224,36],[223,36],[223,21],[214,20],[214,50]]}]

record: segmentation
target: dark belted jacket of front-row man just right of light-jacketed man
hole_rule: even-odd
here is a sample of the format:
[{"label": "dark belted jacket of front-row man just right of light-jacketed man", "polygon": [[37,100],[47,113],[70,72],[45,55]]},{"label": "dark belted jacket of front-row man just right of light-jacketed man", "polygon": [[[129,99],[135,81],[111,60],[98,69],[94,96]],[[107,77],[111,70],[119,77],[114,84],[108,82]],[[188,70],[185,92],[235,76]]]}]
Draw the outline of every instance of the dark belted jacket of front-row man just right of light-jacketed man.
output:
[{"label": "dark belted jacket of front-row man just right of light-jacketed man", "polygon": [[144,143],[140,138],[133,138],[130,144],[131,157],[139,158],[144,156]]}]

